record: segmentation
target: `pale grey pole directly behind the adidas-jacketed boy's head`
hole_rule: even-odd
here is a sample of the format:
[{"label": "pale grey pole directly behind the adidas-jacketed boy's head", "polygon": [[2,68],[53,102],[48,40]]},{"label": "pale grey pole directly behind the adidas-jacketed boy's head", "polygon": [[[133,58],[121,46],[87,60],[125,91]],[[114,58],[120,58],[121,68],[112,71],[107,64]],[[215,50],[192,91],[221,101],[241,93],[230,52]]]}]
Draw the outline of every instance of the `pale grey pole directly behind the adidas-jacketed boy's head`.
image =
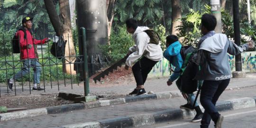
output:
[{"label": "pale grey pole directly behind the adidas-jacketed boy's head", "polygon": [[220,0],[210,0],[211,14],[217,19],[217,26],[215,27],[216,33],[222,33],[222,23],[221,23],[221,5]]}]

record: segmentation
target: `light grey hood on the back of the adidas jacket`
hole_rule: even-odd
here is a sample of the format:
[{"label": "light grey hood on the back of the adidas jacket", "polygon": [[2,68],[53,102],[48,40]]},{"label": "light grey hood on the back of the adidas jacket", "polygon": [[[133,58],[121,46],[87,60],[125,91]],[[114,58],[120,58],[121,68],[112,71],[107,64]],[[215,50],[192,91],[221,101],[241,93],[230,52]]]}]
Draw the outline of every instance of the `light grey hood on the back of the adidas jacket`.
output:
[{"label": "light grey hood on the back of the adidas jacket", "polygon": [[227,43],[227,39],[228,38],[225,34],[215,34],[211,37],[206,38],[201,43],[199,49],[203,49],[211,53],[219,53],[224,49]]}]

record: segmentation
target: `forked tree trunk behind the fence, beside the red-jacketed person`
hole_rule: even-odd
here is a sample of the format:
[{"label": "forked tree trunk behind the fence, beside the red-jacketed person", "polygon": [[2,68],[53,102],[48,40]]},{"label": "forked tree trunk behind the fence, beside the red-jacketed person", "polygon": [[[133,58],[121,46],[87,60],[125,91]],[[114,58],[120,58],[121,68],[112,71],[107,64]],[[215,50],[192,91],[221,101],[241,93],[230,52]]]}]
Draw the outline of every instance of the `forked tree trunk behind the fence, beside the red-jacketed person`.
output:
[{"label": "forked tree trunk behind the fence, beside the red-jacketed person", "polygon": [[73,36],[72,36],[72,27],[70,19],[70,8],[69,0],[59,0],[60,4],[60,16],[57,15],[55,10],[55,5],[53,0],[45,0],[45,6],[49,15],[49,18],[52,22],[52,25],[55,29],[56,35],[63,36],[64,40],[67,41],[65,46],[65,58],[63,61],[63,71],[68,74],[75,74],[73,65],[74,63],[75,50],[73,45]]}]

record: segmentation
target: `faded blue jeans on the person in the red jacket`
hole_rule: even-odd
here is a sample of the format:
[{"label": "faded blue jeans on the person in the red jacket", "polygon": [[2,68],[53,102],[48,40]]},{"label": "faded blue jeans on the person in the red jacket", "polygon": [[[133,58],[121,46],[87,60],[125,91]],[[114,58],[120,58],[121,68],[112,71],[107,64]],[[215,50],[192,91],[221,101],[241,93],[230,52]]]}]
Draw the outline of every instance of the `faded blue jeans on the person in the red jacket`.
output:
[{"label": "faded blue jeans on the person in the red jacket", "polygon": [[40,73],[41,73],[41,64],[38,62],[38,59],[26,59],[21,60],[23,63],[22,70],[16,73],[13,79],[20,79],[21,76],[24,76],[29,73],[30,67],[33,67],[34,70],[34,84],[40,83]]}]

